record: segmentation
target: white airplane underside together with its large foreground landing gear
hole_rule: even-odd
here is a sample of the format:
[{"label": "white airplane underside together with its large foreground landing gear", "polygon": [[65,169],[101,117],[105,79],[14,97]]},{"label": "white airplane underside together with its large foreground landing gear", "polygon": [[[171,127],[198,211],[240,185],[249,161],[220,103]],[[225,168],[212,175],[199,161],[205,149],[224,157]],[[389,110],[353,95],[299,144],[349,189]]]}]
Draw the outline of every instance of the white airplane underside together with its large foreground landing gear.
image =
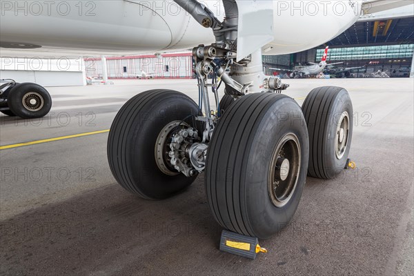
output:
[{"label": "white airplane underside together with its large foreground landing gear", "polygon": [[[10,2],[3,8],[1,46],[44,55],[61,48],[68,49],[66,55],[126,55],[195,46],[199,103],[161,89],[130,99],[112,123],[110,169],[121,186],[147,199],[176,195],[204,172],[208,203],[221,226],[270,237],[293,217],[306,175],[333,178],[344,168],[353,110],[348,92],[336,87],[313,90],[299,107],[278,93],[279,78],[264,75],[262,52],[279,55],[319,46],[352,26],[364,1],[329,6],[328,1],[167,0],[159,1],[161,10],[157,2],[98,1],[93,20],[79,12],[51,16],[47,10],[19,17],[21,11]],[[314,5],[317,12],[294,12],[294,3],[303,11]],[[223,115],[221,83],[235,99]],[[213,111],[210,90],[217,103]]]}]

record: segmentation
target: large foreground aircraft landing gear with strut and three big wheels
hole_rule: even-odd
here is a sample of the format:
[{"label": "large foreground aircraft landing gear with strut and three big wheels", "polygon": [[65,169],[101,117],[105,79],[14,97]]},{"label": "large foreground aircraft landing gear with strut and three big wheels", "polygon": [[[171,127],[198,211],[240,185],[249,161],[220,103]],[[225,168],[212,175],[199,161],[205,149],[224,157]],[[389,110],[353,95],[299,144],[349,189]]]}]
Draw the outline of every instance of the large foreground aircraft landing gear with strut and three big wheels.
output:
[{"label": "large foreground aircraft landing gear with strut and three big wheels", "polygon": [[[216,37],[216,43],[193,48],[199,104],[171,90],[128,101],[110,130],[112,174],[132,193],[163,199],[205,172],[216,221],[242,235],[268,238],[295,214],[307,172],[331,178],[344,168],[351,100],[342,88],[318,88],[302,111],[279,94],[288,88],[281,79],[264,75],[261,47],[237,58],[244,45],[238,45],[236,1],[224,0],[223,22],[198,1],[175,2]],[[226,86],[221,103],[218,79]],[[210,106],[210,90],[217,110]]]}]

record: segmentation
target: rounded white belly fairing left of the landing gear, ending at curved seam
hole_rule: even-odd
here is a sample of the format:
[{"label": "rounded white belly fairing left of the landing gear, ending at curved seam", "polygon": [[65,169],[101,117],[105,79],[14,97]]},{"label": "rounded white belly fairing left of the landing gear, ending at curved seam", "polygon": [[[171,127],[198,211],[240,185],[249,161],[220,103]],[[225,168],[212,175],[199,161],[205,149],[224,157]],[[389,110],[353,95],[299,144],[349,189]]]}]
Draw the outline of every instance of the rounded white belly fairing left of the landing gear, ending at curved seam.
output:
[{"label": "rounded white belly fairing left of the landing gear, ending at curved seam", "polygon": [[[72,1],[66,2],[72,3]],[[75,3],[75,1],[73,1]],[[90,16],[78,10],[63,16],[43,10],[2,10],[1,41],[32,43],[43,48],[105,50],[160,50],[172,42],[168,24],[157,13],[126,1],[97,1]],[[74,6],[71,6],[73,9]]]}]

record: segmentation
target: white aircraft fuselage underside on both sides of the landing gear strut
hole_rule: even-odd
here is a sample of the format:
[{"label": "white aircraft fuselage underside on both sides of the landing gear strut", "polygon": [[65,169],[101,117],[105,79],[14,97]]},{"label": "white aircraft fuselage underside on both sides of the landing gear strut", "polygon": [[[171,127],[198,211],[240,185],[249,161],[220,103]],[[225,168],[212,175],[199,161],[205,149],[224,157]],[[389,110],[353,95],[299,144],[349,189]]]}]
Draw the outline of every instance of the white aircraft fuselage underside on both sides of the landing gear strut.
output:
[{"label": "white aircraft fuselage underside on both sides of the landing gear strut", "polygon": [[[203,3],[217,19],[224,18],[222,1]],[[362,8],[360,0],[270,4],[274,39],[262,48],[264,55],[319,46],[355,23]],[[215,42],[210,28],[200,26],[172,0],[1,1],[0,12],[2,57],[171,52]],[[261,26],[251,26],[251,32],[260,33]]]}]

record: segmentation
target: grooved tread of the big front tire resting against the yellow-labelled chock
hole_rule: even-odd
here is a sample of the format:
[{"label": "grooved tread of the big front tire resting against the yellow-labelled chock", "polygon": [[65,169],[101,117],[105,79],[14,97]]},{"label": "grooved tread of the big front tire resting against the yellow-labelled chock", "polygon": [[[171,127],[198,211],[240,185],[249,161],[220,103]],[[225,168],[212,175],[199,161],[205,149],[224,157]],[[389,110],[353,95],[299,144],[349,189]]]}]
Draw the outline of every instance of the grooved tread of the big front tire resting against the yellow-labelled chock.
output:
[{"label": "grooved tread of the big front tire resting against the yellow-labelled chock", "polygon": [[[217,222],[233,232],[255,236],[244,208],[244,186],[234,184],[244,183],[243,168],[246,166],[246,157],[250,154],[246,148],[253,143],[255,128],[268,110],[266,106],[284,97],[287,96],[258,93],[239,99],[221,117],[220,120],[225,124],[219,122],[210,141],[206,168],[209,205]],[[222,184],[219,179],[223,178],[223,172],[220,172],[223,168],[226,168],[226,185],[219,185]],[[228,171],[228,168],[239,169]],[[226,210],[226,213],[222,210]]]}]

